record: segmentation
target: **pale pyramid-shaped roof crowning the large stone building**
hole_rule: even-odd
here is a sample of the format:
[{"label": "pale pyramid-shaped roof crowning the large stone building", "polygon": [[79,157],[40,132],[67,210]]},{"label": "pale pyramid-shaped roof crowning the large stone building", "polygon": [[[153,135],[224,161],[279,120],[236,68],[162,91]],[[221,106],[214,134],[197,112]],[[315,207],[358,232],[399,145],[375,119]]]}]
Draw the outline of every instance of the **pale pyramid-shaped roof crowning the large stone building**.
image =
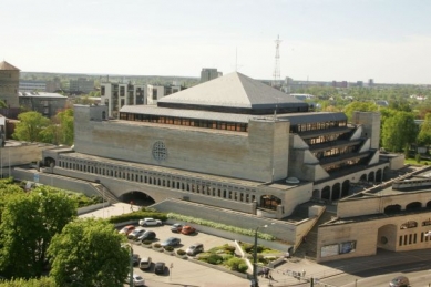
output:
[{"label": "pale pyramid-shaped roof crowning the large stone building", "polygon": [[267,84],[234,72],[222,78],[167,95],[158,106],[219,106],[239,109],[268,109],[307,106],[308,104]]}]

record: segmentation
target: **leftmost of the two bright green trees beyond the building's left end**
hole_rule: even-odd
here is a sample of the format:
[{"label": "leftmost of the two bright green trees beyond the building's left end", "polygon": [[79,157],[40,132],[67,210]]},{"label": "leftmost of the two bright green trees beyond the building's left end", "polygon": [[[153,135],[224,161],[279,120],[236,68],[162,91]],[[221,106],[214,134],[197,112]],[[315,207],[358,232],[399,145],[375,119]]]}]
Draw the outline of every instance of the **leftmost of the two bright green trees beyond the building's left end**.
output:
[{"label": "leftmost of the two bright green trees beyond the building's left end", "polygon": [[38,112],[25,112],[18,115],[13,139],[27,142],[41,142],[42,131],[50,125],[50,120]]}]

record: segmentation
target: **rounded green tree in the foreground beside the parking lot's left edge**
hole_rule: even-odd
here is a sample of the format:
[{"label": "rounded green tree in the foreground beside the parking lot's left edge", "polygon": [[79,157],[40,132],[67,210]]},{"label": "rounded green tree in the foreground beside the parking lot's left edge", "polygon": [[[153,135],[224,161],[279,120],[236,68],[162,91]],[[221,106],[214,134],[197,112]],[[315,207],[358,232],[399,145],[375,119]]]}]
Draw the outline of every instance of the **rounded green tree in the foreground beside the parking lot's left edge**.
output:
[{"label": "rounded green tree in the foreground beside the parking lot's left edge", "polygon": [[50,276],[59,286],[120,287],[130,268],[125,237],[103,219],[76,219],[52,239]]}]

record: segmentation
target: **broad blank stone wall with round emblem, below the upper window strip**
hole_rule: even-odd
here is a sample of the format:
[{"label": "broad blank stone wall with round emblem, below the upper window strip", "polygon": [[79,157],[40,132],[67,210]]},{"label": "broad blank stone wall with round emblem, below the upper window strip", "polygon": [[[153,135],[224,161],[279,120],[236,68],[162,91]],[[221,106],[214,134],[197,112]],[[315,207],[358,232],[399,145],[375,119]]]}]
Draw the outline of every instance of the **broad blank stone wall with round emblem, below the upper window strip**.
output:
[{"label": "broad blank stone wall with round emblem, below the upper window strip", "polygon": [[[289,122],[250,121],[248,133],[164,124],[90,121],[93,106],[75,105],[75,151],[164,167],[269,182],[287,177]],[[153,147],[162,142],[166,160]],[[193,161],[191,161],[193,158]]]}]

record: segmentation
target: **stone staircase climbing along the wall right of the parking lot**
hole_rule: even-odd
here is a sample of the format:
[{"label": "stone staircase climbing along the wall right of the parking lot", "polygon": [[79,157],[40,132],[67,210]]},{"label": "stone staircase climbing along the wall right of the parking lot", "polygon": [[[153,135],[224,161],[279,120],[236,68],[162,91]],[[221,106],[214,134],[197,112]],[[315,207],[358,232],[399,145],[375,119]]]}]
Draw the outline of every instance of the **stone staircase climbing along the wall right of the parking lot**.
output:
[{"label": "stone staircase climbing along the wall right of the parking lot", "polygon": [[295,252],[295,257],[302,257],[311,260],[316,260],[317,255],[317,230],[319,225],[329,222],[332,217],[337,216],[336,213],[326,209],[320,218],[317,221],[311,230],[307,234],[306,240],[302,242]]}]

